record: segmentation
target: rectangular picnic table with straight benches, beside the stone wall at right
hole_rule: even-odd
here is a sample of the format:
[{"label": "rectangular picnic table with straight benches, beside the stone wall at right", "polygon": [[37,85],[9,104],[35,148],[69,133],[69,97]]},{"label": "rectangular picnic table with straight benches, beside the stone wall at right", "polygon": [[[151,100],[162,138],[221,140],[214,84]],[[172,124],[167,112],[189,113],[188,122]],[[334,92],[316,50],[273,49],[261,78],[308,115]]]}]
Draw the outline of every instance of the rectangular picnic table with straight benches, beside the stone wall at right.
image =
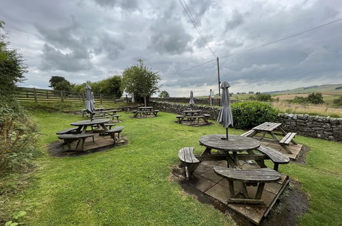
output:
[{"label": "rectangular picnic table with straight benches, beside the stone wall at right", "polygon": [[[242,136],[254,137],[259,133],[263,133],[263,136],[261,137],[261,140],[263,140],[263,138],[265,138],[265,135],[269,134],[273,138],[273,140],[265,140],[266,142],[275,142],[276,144],[279,144],[283,149],[285,149],[287,153],[291,154],[292,152],[287,148],[287,145],[289,145],[290,142],[296,145],[296,142],[293,140],[296,133],[286,133],[284,129],[282,129],[281,125],[281,123],[265,122],[261,125],[253,127],[250,131],[242,134]],[[280,131],[280,134],[282,134],[283,138],[280,140],[276,136],[276,134],[274,134],[274,131]]]}]

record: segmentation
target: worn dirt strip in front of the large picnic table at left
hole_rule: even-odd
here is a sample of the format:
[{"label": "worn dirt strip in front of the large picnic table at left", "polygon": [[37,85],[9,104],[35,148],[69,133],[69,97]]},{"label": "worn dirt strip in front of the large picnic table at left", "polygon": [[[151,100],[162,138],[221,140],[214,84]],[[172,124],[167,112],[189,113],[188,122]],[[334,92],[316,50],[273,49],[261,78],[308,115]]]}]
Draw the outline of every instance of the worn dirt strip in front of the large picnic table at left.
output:
[{"label": "worn dirt strip in front of the large picnic table at left", "polygon": [[62,146],[63,145],[62,140],[57,140],[55,142],[52,142],[49,145],[48,152],[53,157],[70,157],[70,156],[88,155],[90,153],[95,153],[98,151],[106,151],[108,149],[112,149],[113,147],[120,147],[122,145],[128,144],[128,140],[125,137],[120,136],[120,139],[124,140],[124,142],[117,143],[115,145],[110,145],[107,147],[100,147],[92,151],[64,151],[63,146]]}]

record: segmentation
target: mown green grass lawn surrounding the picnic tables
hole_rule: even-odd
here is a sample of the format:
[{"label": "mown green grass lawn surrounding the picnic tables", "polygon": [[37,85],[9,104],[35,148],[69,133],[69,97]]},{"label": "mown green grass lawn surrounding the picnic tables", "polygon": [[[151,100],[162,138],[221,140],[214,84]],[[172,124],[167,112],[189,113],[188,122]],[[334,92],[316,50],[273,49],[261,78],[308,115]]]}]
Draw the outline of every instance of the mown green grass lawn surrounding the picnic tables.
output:
[{"label": "mown green grass lawn surrounding the picnic tables", "polygon": [[[41,145],[57,140],[55,131],[81,116],[31,112],[42,131]],[[121,114],[121,112],[120,112]],[[168,180],[182,147],[203,147],[198,138],[223,133],[217,123],[189,127],[174,123],[174,114],[133,119],[121,114],[129,145],[79,157],[36,160],[34,182],[15,198],[23,201],[29,225],[234,225],[213,207],[185,194]],[[231,129],[232,134],[242,131]],[[310,209],[300,225],[341,223],[342,144],[298,136],[311,147],[306,164],[287,164],[280,171],[297,179],[308,192]]]}]

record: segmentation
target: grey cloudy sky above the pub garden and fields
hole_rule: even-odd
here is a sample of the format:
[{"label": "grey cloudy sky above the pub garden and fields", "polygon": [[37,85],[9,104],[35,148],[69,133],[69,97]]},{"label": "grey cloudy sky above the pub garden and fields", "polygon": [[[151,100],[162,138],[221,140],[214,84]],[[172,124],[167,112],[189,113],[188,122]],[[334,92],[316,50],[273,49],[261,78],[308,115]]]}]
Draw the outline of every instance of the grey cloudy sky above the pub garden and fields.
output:
[{"label": "grey cloudy sky above the pub garden and fields", "polygon": [[217,93],[216,62],[192,68],[215,59],[208,46],[231,92],[342,83],[342,21],[234,55],[342,18],[342,1],[185,1],[208,45],[177,0],[1,0],[0,20],[27,59],[27,87],[98,81],[142,59],[172,96]]}]

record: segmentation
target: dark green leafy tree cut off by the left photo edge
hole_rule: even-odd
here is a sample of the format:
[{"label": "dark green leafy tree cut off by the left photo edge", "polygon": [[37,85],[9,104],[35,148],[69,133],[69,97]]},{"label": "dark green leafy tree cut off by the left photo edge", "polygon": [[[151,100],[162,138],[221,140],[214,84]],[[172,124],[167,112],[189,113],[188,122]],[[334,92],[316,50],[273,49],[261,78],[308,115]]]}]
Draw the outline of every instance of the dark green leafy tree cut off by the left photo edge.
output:
[{"label": "dark green leafy tree cut off by the left photo edge", "polygon": [[[0,21],[0,29],[4,24]],[[0,33],[0,90],[1,95],[10,95],[14,92],[16,84],[25,80],[27,65],[24,64],[23,55],[16,49],[10,49],[10,42],[5,39],[5,34]]]}]

